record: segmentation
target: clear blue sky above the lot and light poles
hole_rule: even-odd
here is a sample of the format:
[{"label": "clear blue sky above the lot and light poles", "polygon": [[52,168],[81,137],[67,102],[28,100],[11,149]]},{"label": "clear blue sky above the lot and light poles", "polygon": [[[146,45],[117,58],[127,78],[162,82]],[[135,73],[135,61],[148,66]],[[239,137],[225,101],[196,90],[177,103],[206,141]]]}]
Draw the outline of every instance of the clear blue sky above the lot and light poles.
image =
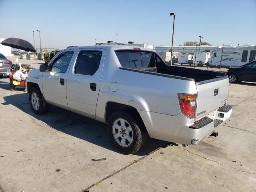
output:
[{"label": "clear blue sky above the lot and light poles", "polygon": [[0,0],[0,38],[33,44],[38,29],[43,48],[116,41],[116,34],[118,42],[169,45],[170,12],[174,45],[199,35],[213,45],[256,43],[256,0]]}]

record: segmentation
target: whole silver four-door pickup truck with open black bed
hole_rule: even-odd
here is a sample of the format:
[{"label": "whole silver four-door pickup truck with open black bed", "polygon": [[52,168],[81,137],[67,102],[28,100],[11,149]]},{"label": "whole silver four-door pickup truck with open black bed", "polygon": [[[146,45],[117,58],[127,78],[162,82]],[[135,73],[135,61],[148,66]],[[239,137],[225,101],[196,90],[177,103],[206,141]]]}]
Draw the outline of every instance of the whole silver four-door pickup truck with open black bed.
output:
[{"label": "whole silver four-door pickup truck with open black bed", "polygon": [[148,136],[197,144],[232,112],[226,74],[168,66],[153,50],[133,46],[62,50],[31,70],[26,86],[36,114],[55,105],[104,122],[124,154]]}]

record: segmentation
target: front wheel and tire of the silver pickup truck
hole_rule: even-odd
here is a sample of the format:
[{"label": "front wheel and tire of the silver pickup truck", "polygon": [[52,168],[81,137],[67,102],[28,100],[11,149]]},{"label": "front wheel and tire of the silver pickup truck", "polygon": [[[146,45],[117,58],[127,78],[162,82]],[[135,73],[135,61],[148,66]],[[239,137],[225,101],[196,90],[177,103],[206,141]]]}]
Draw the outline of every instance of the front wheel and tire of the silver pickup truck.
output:
[{"label": "front wheel and tire of the silver pickup truck", "polygon": [[41,115],[48,112],[49,108],[44,108],[41,92],[33,87],[29,92],[29,104],[35,114]]}]

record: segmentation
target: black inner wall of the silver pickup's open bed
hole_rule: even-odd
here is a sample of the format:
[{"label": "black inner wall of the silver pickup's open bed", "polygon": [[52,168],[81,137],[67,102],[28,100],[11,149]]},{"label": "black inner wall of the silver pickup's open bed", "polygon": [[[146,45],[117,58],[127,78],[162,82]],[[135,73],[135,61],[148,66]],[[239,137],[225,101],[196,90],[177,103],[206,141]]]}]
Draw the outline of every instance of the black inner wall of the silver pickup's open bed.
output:
[{"label": "black inner wall of the silver pickup's open bed", "polygon": [[210,79],[218,78],[221,76],[225,76],[225,73],[221,73],[221,72],[213,72],[213,71],[185,68],[185,67],[179,67],[179,66],[168,66],[168,65],[158,64],[156,67],[157,67],[156,72],[158,73],[192,78],[195,80],[195,82],[200,82],[204,80],[210,80]]}]

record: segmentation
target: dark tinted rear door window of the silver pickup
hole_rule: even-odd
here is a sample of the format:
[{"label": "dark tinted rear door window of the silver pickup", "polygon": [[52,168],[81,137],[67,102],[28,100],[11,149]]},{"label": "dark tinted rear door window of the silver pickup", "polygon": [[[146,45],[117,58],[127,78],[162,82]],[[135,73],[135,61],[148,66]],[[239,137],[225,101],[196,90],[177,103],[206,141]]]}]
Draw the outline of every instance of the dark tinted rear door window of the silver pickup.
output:
[{"label": "dark tinted rear door window of the silver pickup", "polygon": [[74,73],[93,75],[100,66],[101,51],[80,51],[74,68]]}]

